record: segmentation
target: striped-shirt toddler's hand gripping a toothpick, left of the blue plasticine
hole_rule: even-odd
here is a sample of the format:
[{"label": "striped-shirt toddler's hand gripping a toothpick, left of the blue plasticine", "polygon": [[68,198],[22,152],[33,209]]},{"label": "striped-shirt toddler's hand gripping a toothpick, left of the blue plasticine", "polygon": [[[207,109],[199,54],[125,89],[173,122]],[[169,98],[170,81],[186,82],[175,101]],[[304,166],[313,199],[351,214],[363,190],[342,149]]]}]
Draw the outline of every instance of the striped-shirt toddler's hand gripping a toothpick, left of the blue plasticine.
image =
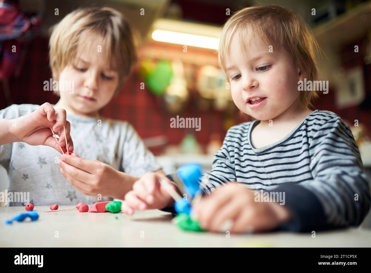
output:
[{"label": "striped-shirt toddler's hand gripping a toothpick, left of the blue plasticine", "polygon": [[167,187],[176,190],[173,182],[164,175],[150,172],[143,175],[133,185],[133,190],[125,195],[125,202],[121,209],[124,213],[132,215],[134,210],[161,209],[173,204],[173,199],[168,194],[160,180],[167,183]]}]

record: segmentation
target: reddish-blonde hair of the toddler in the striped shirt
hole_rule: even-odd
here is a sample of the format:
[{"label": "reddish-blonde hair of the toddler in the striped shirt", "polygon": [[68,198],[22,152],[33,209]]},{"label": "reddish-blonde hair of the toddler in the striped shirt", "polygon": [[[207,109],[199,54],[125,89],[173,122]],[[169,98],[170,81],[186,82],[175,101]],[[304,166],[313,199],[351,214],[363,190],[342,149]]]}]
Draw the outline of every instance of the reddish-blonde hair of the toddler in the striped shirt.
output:
[{"label": "reddish-blonde hair of the toddler in the striped shirt", "polygon": [[[304,72],[307,80],[317,79],[316,56],[320,53],[320,48],[311,29],[299,15],[276,5],[248,7],[228,19],[223,27],[218,50],[219,65],[225,75],[225,60],[229,56],[233,35],[239,36],[241,48],[244,48],[243,43],[251,37],[252,32],[260,34],[269,45],[285,49]],[[300,101],[308,108],[312,106],[312,99],[317,96],[315,91],[301,92]]]}]

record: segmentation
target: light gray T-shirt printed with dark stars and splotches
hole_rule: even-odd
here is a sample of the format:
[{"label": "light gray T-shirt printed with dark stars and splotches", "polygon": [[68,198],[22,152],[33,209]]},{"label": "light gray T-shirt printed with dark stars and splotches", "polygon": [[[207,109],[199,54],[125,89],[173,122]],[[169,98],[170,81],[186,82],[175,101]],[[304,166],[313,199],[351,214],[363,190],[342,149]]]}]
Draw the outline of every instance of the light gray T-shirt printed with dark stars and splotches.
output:
[{"label": "light gray T-shirt printed with dark stars and splotches", "polygon": [[[18,118],[38,107],[31,104],[12,105],[0,110],[0,119]],[[128,122],[72,115],[67,115],[67,120],[71,124],[74,152],[79,157],[99,160],[137,177],[161,168]],[[8,194],[29,192],[29,201],[34,205],[96,202],[97,197],[80,193],[63,177],[59,171],[59,157],[60,153],[49,146],[32,146],[24,142],[0,145],[0,164],[9,176]],[[112,198],[102,198],[102,201],[108,200]],[[23,205],[14,201],[5,205]]]}]

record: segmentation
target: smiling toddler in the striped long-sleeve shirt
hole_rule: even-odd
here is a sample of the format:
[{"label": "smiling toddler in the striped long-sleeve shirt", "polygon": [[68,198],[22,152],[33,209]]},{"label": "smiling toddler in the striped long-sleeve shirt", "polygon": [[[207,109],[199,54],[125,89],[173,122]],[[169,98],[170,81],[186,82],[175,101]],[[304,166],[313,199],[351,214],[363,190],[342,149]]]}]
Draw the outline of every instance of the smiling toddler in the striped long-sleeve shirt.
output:
[{"label": "smiling toddler in the striped long-sleeve shirt", "polygon": [[[362,222],[370,187],[352,132],[335,113],[311,110],[315,91],[298,88],[317,79],[319,50],[303,20],[280,6],[249,7],[226,22],[220,67],[237,108],[255,120],[230,128],[214,156],[193,211],[201,227],[219,231],[232,221],[236,233],[316,231]],[[175,175],[167,176],[174,188]],[[136,181],[124,211],[172,211],[160,179]]]}]

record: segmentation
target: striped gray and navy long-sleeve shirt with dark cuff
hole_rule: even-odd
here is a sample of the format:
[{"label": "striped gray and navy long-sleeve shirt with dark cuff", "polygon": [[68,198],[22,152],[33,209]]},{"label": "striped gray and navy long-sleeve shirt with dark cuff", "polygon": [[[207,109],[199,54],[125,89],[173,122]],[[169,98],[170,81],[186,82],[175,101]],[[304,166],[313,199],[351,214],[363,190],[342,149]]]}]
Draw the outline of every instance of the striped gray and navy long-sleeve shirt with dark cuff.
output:
[{"label": "striped gray and navy long-sleeve shirt with dark cuff", "polygon": [[253,190],[285,192],[294,217],[282,229],[308,231],[359,225],[370,187],[349,127],[329,111],[313,111],[285,138],[255,148],[259,121],[230,128],[214,156],[206,193],[229,181]]}]

